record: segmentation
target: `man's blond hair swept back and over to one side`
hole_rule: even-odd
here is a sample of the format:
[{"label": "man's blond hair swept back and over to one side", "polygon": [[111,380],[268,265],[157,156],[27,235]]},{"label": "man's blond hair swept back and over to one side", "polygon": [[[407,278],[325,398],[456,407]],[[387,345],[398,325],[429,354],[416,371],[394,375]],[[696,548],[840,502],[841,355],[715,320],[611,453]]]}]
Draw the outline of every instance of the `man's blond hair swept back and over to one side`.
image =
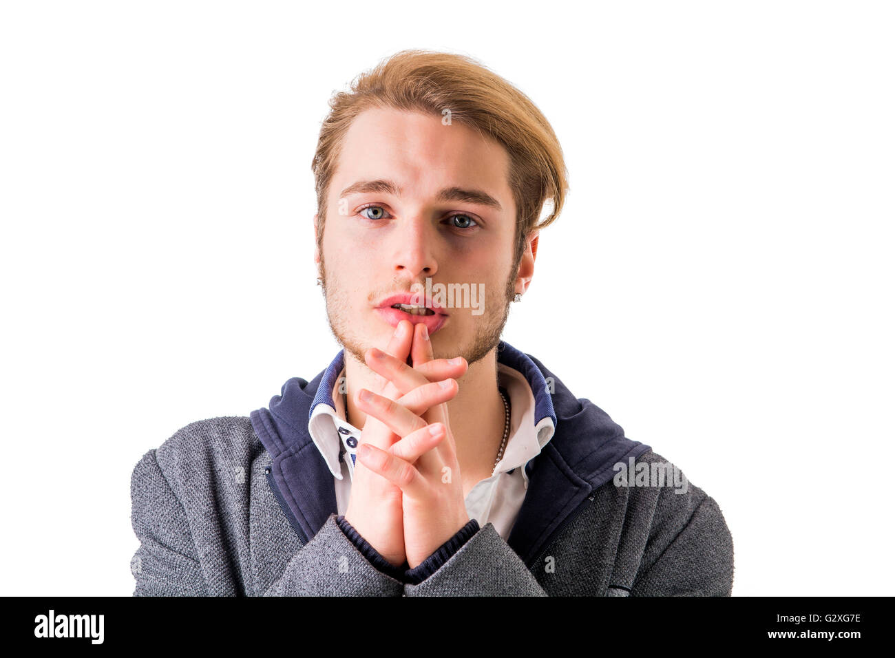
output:
[{"label": "man's blond hair swept back and over to one side", "polygon": [[[501,144],[509,155],[508,184],[516,202],[515,267],[531,232],[559,215],[568,190],[556,134],[520,90],[475,60],[428,50],[402,50],[357,76],[350,91],[329,99],[311,162],[317,192],[317,244],[322,245],[327,195],[345,133],[354,117],[371,107],[419,111],[469,126]],[[545,201],[550,215],[538,224]]]}]

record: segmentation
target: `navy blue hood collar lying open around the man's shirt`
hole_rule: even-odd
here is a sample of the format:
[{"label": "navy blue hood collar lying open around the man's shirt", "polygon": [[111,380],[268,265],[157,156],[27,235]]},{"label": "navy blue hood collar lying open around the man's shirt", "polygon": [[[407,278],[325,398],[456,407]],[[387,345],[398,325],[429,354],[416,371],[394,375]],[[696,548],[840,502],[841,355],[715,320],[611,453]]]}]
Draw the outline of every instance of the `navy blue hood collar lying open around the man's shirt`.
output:
[{"label": "navy blue hood collar lying open around the man's shirt", "polygon": [[[614,464],[639,457],[650,447],[627,439],[609,414],[572,395],[533,356],[500,341],[497,357],[498,363],[522,373],[529,382],[534,424],[540,428],[543,448],[524,467],[529,487],[507,538],[513,550],[530,562],[584,499],[612,479]],[[317,534],[328,516],[337,513],[333,474],[308,423],[315,407],[325,404],[335,409],[332,391],[344,364],[342,350],[313,380],[286,381],[268,408],[251,412],[252,426],[271,455],[277,488],[305,537]],[[549,442],[541,441],[545,437]]]}]

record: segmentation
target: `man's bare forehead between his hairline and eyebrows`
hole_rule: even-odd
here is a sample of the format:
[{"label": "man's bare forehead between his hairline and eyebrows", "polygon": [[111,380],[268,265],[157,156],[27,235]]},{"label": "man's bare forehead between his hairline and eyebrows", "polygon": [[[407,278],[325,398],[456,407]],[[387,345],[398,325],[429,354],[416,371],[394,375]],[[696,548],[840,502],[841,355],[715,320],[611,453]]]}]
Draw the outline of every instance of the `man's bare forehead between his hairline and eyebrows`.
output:
[{"label": "man's bare forehead between his hairline and eyebrows", "polygon": [[510,208],[509,154],[496,141],[454,121],[394,108],[354,118],[339,155],[333,194],[358,180],[394,179],[414,196],[449,186],[475,187]]}]

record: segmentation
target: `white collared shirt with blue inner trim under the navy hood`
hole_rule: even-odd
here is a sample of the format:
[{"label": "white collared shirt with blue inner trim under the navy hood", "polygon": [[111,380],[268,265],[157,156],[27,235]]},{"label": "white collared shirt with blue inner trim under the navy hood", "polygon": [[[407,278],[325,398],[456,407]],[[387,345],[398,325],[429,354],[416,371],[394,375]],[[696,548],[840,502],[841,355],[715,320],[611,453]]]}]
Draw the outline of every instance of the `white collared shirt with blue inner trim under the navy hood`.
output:
[{"label": "white collared shirt with blue inner trim under the navy hood", "polygon": [[[340,389],[345,381],[345,368],[336,378],[332,390],[335,407],[321,403],[314,406],[308,431],[320,455],[336,479],[338,514],[345,514],[354,477],[354,460],[361,431],[345,423],[345,405]],[[537,456],[553,437],[552,418],[534,424],[532,387],[521,372],[498,363],[499,385],[507,390],[510,400],[510,427],[507,447],[494,473],[473,486],[466,496],[466,513],[484,527],[490,523],[505,540],[516,523],[516,516],[528,489],[525,465]]]}]

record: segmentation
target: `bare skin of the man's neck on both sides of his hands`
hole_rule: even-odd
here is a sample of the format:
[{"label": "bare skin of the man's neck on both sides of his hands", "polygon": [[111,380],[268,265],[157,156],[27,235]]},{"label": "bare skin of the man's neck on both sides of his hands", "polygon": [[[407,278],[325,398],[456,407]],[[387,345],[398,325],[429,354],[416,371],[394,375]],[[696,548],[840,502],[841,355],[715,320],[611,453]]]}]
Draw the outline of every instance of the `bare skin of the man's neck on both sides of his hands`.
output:
[{"label": "bare skin of the man's neck on both sides of his hands", "polygon": [[[348,417],[354,427],[362,429],[367,417],[354,406],[354,393],[358,389],[368,389],[381,395],[385,382],[366,363],[358,362],[347,351],[345,379]],[[498,392],[497,347],[471,363],[464,376],[457,379],[457,384],[456,397],[447,402],[447,415],[466,492],[475,483],[490,477],[503,439],[505,412]],[[470,483],[469,487],[467,483]]]}]

